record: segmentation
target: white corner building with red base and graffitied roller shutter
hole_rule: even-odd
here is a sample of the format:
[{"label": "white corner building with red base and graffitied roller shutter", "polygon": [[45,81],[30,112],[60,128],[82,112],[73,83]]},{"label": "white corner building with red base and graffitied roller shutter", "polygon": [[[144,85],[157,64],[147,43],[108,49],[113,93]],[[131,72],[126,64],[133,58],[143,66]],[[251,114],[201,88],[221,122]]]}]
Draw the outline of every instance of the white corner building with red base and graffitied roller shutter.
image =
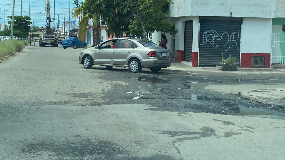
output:
[{"label": "white corner building with red base and graffitied roller shutter", "polygon": [[[224,53],[241,67],[285,64],[285,0],[173,0],[169,9],[178,29],[166,33],[175,61],[215,66]],[[161,34],[153,33],[152,41]]]}]

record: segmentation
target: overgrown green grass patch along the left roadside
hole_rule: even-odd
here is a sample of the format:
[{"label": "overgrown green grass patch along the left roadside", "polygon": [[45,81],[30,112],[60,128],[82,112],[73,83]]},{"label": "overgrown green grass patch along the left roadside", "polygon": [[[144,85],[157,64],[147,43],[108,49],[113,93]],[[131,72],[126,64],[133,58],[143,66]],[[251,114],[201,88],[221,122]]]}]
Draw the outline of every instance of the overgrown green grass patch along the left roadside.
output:
[{"label": "overgrown green grass patch along the left roadside", "polygon": [[24,49],[24,42],[18,40],[5,40],[0,42],[0,56],[12,55]]}]

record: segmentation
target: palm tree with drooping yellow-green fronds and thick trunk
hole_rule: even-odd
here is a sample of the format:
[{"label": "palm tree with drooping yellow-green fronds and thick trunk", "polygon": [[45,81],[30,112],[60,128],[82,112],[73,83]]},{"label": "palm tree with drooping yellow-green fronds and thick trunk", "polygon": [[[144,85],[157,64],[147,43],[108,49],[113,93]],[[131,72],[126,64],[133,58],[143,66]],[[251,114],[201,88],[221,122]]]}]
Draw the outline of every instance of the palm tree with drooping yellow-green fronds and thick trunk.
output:
[{"label": "palm tree with drooping yellow-green fronds and thick trunk", "polygon": [[92,46],[96,46],[100,44],[101,39],[101,27],[99,20],[99,13],[95,13],[96,10],[91,9],[90,1],[81,2],[81,4],[76,4],[77,7],[73,9],[73,16],[78,17],[81,16],[79,21],[78,35],[81,41],[86,40],[87,29],[89,27],[89,19],[92,19],[93,22],[93,44]]}]

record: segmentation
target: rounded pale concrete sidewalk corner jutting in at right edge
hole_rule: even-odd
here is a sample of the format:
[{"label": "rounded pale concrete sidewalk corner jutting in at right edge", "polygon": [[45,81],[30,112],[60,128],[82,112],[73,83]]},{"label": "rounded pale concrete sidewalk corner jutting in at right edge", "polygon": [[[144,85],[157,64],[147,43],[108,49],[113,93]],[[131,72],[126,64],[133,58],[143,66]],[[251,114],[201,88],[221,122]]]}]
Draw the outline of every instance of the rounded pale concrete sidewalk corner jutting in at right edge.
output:
[{"label": "rounded pale concrete sidewalk corner jutting in at right edge", "polygon": [[243,91],[241,95],[254,101],[265,104],[285,106],[285,89],[255,89]]}]

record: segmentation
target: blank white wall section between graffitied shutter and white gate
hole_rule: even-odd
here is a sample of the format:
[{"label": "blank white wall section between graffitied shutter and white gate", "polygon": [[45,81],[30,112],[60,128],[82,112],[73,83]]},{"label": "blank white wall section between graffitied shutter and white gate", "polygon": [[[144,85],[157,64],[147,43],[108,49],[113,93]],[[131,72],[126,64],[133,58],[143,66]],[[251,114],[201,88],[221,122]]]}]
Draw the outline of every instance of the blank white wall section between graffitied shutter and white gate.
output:
[{"label": "blank white wall section between graffitied shutter and white gate", "polygon": [[244,18],[241,26],[241,53],[271,53],[271,18]]}]

